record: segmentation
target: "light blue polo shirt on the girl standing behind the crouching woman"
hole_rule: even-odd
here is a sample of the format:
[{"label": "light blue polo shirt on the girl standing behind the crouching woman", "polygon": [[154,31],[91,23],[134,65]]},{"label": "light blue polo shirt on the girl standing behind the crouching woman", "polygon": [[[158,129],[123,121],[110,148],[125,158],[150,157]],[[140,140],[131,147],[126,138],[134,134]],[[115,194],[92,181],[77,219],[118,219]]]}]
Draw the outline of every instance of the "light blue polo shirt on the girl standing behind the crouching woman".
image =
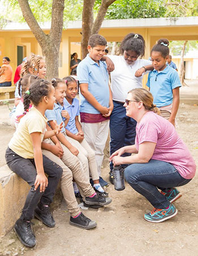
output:
[{"label": "light blue polo shirt on the girl standing behind the crouching woman", "polygon": [[181,87],[178,72],[166,66],[161,72],[153,70],[148,75],[147,86],[157,107],[168,106],[173,102],[173,89]]}]

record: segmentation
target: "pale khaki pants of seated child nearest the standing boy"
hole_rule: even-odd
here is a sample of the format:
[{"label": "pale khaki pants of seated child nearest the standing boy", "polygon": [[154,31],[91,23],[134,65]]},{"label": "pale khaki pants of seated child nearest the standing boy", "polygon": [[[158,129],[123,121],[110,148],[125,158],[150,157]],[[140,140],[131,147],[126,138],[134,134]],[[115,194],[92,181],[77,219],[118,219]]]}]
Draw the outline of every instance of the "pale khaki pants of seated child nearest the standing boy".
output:
[{"label": "pale khaki pants of seated child nearest the standing boy", "polygon": [[99,179],[95,153],[93,152],[87,141],[84,139],[83,141],[79,142],[68,136],[67,139],[79,150],[79,154],[77,157],[83,165],[86,177],[89,178],[89,174],[91,174],[93,181]]}]

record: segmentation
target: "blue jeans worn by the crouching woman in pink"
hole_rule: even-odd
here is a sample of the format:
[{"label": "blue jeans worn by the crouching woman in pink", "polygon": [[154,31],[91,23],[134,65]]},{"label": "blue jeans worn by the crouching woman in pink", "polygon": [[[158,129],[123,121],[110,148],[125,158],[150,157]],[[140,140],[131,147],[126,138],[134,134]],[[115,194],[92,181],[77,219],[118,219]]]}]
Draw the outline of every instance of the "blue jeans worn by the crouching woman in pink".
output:
[{"label": "blue jeans worn by the crouching woman in pink", "polygon": [[160,190],[179,187],[191,179],[184,179],[171,163],[150,160],[148,163],[133,163],[124,170],[126,181],[135,191],[145,196],[157,209],[165,209],[169,201]]}]

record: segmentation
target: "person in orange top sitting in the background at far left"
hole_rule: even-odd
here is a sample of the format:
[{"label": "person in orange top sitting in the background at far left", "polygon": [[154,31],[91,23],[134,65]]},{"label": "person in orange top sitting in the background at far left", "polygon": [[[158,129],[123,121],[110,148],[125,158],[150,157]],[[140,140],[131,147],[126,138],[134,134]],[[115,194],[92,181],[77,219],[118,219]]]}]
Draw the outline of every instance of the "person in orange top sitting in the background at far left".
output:
[{"label": "person in orange top sitting in the background at far left", "polygon": [[0,68],[0,87],[11,86],[12,67],[10,66],[10,58],[3,58],[3,65]]}]

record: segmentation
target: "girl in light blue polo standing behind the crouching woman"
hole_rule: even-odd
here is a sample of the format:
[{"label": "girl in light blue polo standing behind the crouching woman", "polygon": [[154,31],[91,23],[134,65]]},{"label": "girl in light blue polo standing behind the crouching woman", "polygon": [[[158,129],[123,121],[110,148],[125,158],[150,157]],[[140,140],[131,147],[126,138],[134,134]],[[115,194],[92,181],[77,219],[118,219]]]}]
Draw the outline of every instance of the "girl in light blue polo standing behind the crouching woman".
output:
[{"label": "girl in light blue polo standing behind the crouching woman", "polygon": [[175,125],[179,108],[179,87],[181,83],[178,72],[166,65],[169,57],[169,41],[160,39],[151,50],[150,56],[154,70],[148,75],[147,86],[153,95],[153,103],[160,108],[161,116]]}]

